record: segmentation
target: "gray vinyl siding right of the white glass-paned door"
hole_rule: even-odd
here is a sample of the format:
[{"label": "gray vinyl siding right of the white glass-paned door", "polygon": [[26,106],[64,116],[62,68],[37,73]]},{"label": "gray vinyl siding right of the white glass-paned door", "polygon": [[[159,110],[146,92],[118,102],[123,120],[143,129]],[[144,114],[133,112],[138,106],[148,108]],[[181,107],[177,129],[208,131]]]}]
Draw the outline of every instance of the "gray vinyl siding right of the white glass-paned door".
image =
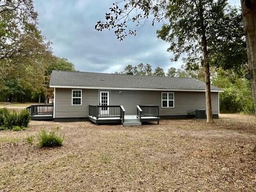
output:
[{"label": "gray vinyl siding right of the white glass-paned door", "polygon": [[[166,91],[164,91],[166,92]],[[205,108],[204,92],[175,91],[174,108],[162,108],[162,91],[111,91],[111,105],[123,105],[125,114],[136,114],[136,105],[158,105],[159,115],[187,115],[188,110]],[[218,114],[218,93],[212,93],[213,114]]]}]

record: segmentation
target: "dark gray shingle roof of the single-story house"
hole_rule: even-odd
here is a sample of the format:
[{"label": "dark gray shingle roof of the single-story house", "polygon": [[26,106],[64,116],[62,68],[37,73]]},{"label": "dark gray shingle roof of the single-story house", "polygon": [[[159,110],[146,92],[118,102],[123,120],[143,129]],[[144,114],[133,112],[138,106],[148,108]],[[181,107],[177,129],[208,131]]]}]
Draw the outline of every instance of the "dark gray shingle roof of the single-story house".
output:
[{"label": "dark gray shingle roof of the single-story house", "polygon": [[[205,90],[205,82],[194,78],[135,76],[94,72],[52,71],[50,87],[134,88]],[[211,86],[213,91],[220,88]]]}]

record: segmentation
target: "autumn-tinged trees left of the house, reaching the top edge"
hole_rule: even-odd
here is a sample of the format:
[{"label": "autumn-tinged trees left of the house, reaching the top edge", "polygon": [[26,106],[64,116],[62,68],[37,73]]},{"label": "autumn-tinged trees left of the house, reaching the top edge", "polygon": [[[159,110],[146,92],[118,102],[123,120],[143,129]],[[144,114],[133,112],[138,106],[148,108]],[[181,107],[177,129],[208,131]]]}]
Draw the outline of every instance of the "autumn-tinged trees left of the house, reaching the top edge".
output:
[{"label": "autumn-tinged trees left of the house, reaching the top edge", "polygon": [[52,97],[52,70],[75,70],[52,53],[38,30],[33,1],[0,2],[0,101],[41,102]]}]

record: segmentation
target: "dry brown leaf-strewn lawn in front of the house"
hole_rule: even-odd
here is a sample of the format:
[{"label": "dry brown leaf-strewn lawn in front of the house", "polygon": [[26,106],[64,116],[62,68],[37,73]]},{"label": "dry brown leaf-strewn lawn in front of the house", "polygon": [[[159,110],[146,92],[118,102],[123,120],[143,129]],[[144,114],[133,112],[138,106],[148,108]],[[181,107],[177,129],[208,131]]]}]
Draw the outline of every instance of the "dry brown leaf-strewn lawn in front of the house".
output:
[{"label": "dry brown leaf-strewn lawn in front of the house", "polygon": [[[25,142],[57,126],[62,147]],[[239,114],[142,127],[32,121],[0,131],[0,191],[256,191],[254,144],[256,118]]]}]

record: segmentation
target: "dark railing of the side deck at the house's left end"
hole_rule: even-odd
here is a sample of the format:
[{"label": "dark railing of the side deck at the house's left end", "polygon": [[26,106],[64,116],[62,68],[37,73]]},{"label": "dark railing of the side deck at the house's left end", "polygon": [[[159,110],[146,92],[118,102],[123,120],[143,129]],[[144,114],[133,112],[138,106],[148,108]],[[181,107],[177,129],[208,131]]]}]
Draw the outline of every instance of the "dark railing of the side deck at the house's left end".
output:
[{"label": "dark railing of the side deck at the house's left end", "polygon": [[31,116],[53,115],[53,105],[31,105],[26,108]]}]

